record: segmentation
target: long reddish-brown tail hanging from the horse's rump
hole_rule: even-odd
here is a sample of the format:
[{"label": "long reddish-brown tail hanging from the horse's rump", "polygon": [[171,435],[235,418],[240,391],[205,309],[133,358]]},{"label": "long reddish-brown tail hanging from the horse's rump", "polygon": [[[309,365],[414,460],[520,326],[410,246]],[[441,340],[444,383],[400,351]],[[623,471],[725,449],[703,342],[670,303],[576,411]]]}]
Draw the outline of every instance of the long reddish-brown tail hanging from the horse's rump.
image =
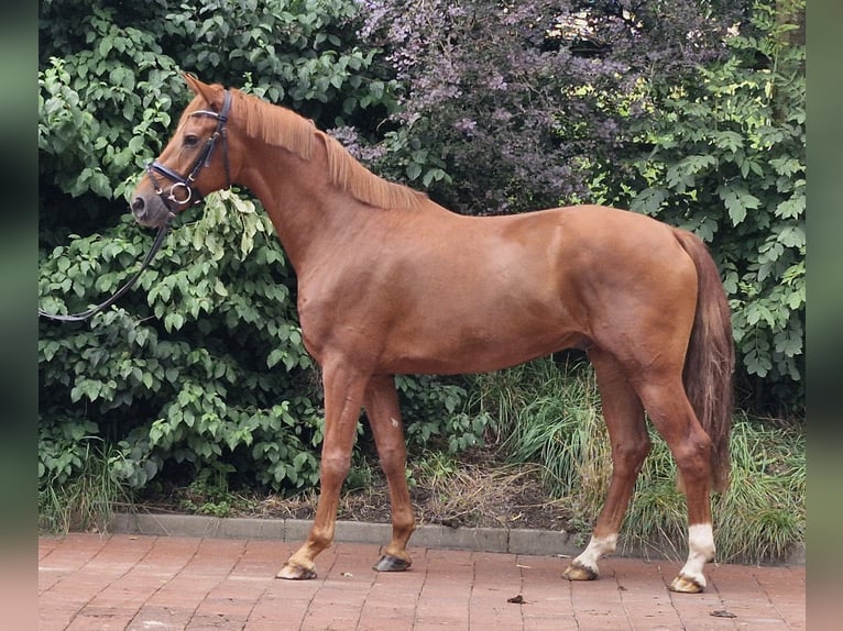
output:
[{"label": "long reddish-brown tail hanging from the horse's rump", "polygon": [[697,267],[697,312],[682,380],[691,407],[712,443],[714,490],[729,486],[729,434],[732,430],[732,374],[735,350],[732,319],[720,273],[703,242],[685,230],[676,239]]}]

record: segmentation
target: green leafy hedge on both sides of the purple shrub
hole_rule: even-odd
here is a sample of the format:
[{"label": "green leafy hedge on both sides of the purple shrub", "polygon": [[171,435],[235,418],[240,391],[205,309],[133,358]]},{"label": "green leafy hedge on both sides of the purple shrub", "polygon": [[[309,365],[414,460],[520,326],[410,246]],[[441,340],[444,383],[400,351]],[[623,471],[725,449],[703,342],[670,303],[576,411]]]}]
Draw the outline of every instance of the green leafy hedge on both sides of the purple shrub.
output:
[{"label": "green leafy hedge on both sides of the purple shrub", "polygon": [[[419,146],[391,118],[412,118],[402,110],[409,79],[390,53],[388,37],[403,35],[363,29],[365,11],[385,4],[41,3],[41,307],[87,308],[147,251],[152,235],[129,217],[125,196],[186,104],[183,69],[295,108],[397,179],[441,188],[467,177],[459,162],[440,159],[448,152],[437,143],[453,134]],[[393,10],[404,4],[424,9]],[[770,5],[758,3],[754,34],[730,40],[731,58],[701,67],[696,82],[653,78],[649,114],[618,143],[634,178],[618,181],[599,164],[574,170],[590,173],[595,196],[710,241],[735,309],[741,383],[762,405],[799,414],[803,51],[775,47]],[[775,64],[749,64],[759,53]],[[42,320],[39,366],[42,488],[73,479],[100,443],[113,475],[133,488],[197,472],[285,491],[317,483],[319,375],[302,345],[295,276],[248,191],[211,195],[179,219],[116,309],[81,324]],[[469,384],[398,379],[412,447],[458,452],[482,441],[488,417],[462,411],[474,396]]]}]

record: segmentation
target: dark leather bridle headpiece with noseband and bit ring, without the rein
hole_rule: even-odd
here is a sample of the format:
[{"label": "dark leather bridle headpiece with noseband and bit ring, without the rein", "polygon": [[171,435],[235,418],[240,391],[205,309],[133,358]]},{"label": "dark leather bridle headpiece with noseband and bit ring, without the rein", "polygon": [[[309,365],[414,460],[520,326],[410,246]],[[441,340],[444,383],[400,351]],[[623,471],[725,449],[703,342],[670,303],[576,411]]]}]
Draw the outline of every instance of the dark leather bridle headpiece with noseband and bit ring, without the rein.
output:
[{"label": "dark leather bridle headpiece with noseband and bit ring, without the rein", "polygon": [[[194,186],[196,176],[204,166],[210,165],[211,156],[214,155],[214,148],[217,146],[217,141],[222,140],[222,155],[226,160],[226,179],[228,184],[231,184],[231,173],[228,163],[228,134],[226,132],[226,123],[228,122],[228,114],[231,110],[231,92],[226,90],[226,96],[222,100],[222,111],[212,112],[210,110],[197,110],[190,112],[189,117],[210,117],[217,119],[217,129],[205,143],[202,151],[196,156],[190,173],[187,177],[182,176],[169,167],[164,166],[158,160],[153,162],[146,166],[146,175],[150,176],[152,185],[155,187],[155,192],[164,200],[165,206],[169,207],[167,202],[177,203],[178,206],[196,206],[201,203],[204,196],[198,188]],[[165,178],[172,180],[174,184],[169,187],[169,190],[158,184],[158,178],[155,174],[162,175]]]}]

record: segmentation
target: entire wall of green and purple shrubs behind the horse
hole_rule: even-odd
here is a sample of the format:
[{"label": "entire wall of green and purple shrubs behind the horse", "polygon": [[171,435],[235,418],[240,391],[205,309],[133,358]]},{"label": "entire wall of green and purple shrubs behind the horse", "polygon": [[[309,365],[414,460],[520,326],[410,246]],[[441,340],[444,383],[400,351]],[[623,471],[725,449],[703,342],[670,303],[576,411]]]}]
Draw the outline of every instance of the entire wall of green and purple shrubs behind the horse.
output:
[{"label": "entire wall of green and purple shrubs behind the horse", "polygon": [[[186,103],[184,69],[295,108],[461,212],[633,200],[691,228],[725,272],[744,390],[797,414],[802,57],[777,44],[770,5],[724,47],[734,14],[696,0],[42,2],[40,306],[85,309],[149,248],[123,198]],[[322,402],[295,276],[245,195],[180,220],[118,308],[40,323],[42,489],[98,445],[131,488],[162,472],[316,484]],[[497,440],[489,416],[461,411],[484,396],[473,381],[397,383],[410,447]]]}]

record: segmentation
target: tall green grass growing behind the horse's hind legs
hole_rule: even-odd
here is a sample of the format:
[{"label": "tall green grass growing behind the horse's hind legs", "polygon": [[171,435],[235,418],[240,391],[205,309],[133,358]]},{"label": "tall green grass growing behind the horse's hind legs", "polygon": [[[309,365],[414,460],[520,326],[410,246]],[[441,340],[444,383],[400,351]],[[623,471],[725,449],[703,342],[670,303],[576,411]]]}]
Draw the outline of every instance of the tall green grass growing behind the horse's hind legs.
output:
[{"label": "tall green grass growing behind the horse's hind legs", "polygon": [[[543,481],[581,516],[588,535],[605,498],[611,451],[591,366],[538,359],[478,375],[475,413],[491,418],[492,440],[518,463],[538,463]],[[804,541],[806,438],[801,428],[736,413],[731,436],[732,484],[712,499],[718,560],[762,563]],[[679,560],[687,550],[685,497],[676,463],[650,425],[653,449],[638,476],[621,552],[656,546]]]}]

